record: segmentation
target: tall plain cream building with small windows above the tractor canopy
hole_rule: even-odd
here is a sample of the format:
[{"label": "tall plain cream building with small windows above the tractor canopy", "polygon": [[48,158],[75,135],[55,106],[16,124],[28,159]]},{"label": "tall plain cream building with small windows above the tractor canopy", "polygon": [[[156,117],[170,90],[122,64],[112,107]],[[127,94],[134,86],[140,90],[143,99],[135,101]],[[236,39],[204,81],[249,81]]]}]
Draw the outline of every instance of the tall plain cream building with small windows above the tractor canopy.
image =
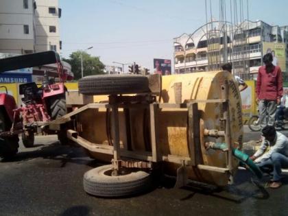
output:
[{"label": "tall plain cream building with small windows above the tractor canopy", "polygon": [[1,0],[0,53],[60,51],[58,0]]}]

